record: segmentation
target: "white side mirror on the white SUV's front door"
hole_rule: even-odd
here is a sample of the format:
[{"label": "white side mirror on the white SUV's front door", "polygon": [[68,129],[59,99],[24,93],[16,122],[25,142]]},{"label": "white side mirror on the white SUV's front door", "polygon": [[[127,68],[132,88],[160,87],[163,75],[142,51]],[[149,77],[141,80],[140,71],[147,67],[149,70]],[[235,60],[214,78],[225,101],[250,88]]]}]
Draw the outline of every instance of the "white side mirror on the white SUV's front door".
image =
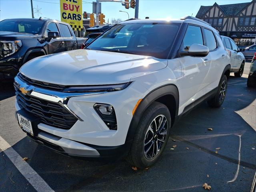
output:
[{"label": "white side mirror on the white SUV's front door", "polygon": [[208,55],[208,53],[209,53],[208,47],[200,44],[192,44],[187,52],[185,51],[180,52],[180,56],[190,55],[190,56],[196,56],[196,57],[205,57]]}]

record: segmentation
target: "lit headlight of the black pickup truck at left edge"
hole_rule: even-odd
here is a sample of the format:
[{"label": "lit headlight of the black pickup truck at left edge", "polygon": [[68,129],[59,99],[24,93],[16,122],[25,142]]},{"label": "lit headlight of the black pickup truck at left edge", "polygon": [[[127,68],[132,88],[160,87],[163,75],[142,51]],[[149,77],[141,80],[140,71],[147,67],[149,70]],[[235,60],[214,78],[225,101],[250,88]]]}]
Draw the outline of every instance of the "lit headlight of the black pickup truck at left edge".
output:
[{"label": "lit headlight of the black pickup truck at left edge", "polygon": [[21,40],[15,41],[0,41],[0,56],[7,57],[17,52],[22,46]]}]

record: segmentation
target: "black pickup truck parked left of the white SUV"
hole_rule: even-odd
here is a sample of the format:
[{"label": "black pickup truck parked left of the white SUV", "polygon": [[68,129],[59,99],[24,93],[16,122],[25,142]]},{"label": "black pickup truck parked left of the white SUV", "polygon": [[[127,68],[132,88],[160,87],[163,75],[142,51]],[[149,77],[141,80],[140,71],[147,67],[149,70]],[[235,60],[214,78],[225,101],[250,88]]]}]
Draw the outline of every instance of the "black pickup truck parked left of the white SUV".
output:
[{"label": "black pickup truck parked left of the white SUV", "polygon": [[81,48],[69,24],[50,19],[6,19],[0,22],[0,82],[12,80],[27,61]]}]

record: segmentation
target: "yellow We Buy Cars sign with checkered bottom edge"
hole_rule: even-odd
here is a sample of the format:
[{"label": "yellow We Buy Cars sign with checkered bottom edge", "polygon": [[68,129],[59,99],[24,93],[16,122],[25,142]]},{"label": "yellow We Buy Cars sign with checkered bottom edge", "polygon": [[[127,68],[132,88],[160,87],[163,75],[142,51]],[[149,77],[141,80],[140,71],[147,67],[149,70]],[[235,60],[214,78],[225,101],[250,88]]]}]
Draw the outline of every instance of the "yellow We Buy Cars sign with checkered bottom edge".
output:
[{"label": "yellow We Buy Cars sign with checkered bottom edge", "polygon": [[74,31],[80,31],[83,28],[82,0],[60,0],[60,18]]}]

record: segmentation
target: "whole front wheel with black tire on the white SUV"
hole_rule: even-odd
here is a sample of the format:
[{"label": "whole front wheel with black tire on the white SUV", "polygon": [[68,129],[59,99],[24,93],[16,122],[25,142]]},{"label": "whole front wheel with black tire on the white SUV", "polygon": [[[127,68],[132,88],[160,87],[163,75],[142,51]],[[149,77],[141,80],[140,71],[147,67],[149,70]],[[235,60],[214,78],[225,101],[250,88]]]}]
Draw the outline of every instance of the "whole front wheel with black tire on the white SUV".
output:
[{"label": "whole front wheel with black tire on the white SUV", "polygon": [[[157,132],[156,125],[162,125]],[[155,164],[167,144],[170,127],[171,115],[168,108],[164,104],[153,102],[140,119],[126,160],[138,168]]]}]

